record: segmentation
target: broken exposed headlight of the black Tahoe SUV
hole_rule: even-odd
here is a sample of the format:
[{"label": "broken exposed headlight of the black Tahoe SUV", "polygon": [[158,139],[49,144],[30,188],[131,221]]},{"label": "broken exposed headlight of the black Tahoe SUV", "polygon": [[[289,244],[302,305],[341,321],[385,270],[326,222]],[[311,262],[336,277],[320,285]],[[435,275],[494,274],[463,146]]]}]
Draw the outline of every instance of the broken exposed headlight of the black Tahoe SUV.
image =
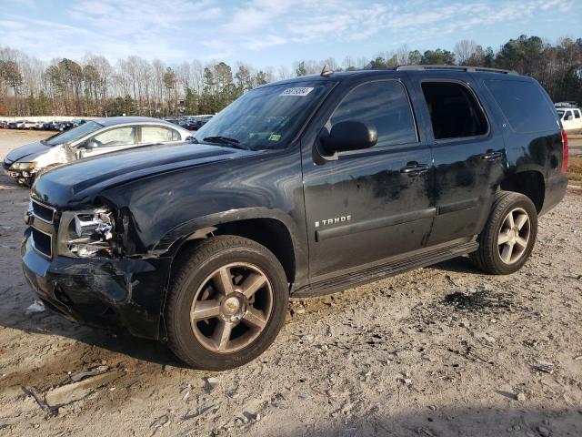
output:
[{"label": "broken exposed headlight of the black Tahoe SUV", "polygon": [[112,255],[115,248],[115,218],[107,208],[75,212],[62,242],[80,258]]}]

